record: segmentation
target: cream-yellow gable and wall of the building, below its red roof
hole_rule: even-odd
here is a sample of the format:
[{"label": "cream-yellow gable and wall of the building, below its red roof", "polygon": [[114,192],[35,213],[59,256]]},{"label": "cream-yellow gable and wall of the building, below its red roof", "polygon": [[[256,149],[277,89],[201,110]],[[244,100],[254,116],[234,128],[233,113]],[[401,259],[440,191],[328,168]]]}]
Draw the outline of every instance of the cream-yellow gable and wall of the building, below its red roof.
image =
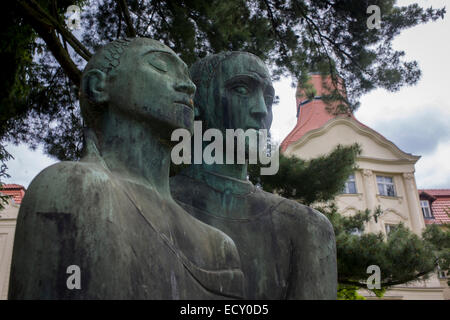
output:
[{"label": "cream-yellow gable and wall of the building, below its red roof", "polygon": [[[357,159],[355,171],[356,194],[342,194],[336,197],[336,204],[343,214],[351,215],[358,210],[374,210],[380,206],[383,214],[378,223],[371,221],[367,232],[386,233],[386,224],[399,224],[420,235],[425,221],[420,207],[414,177],[414,166],[420,158],[398,149],[374,130],[365,127],[352,118],[336,118],[323,127],[311,130],[296,142],[290,144],[285,155],[302,159],[316,158],[330,153],[338,144],[358,143],[362,153]],[[393,177],[396,196],[378,194],[377,175]],[[362,290],[364,291],[364,290]],[[365,292],[365,293],[364,293]],[[371,295],[364,291],[366,297]],[[408,286],[397,286],[385,294],[386,299],[443,299],[443,287],[435,275],[425,282]]]}]

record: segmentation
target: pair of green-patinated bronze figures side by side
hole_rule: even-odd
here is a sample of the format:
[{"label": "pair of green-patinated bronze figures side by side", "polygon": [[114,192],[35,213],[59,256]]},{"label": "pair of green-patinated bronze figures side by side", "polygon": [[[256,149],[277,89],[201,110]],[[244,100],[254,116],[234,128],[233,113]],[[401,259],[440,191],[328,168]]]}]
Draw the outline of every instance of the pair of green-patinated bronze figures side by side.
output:
[{"label": "pair of green-patinated bronze figures side by side", "polygon": [[[205,130],[270,128],[274,91],[256,56],[213,55],[191,75]],[[192,131],[194,92],[185,63],[157,41],[119,40],[92,57],[84,157],[31,183],[10,299],[336,298],[329,221],[255,188],[245,164],[191,166],[171,193],[170,136]],[[79,290],[66,285],[71,265]]]}]

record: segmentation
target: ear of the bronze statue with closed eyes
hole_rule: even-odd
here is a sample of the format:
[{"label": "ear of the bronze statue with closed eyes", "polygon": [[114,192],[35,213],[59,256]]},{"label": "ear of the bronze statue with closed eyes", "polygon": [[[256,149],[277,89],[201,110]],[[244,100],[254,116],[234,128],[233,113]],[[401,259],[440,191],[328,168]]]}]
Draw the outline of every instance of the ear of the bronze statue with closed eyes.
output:
[{"label": "ear of the bronze statue with closed eyes", "polygon": [[89,70],[83,75],[82,94],[95,104],[108,101],[106,89],[106,74],[98,69]]}]

